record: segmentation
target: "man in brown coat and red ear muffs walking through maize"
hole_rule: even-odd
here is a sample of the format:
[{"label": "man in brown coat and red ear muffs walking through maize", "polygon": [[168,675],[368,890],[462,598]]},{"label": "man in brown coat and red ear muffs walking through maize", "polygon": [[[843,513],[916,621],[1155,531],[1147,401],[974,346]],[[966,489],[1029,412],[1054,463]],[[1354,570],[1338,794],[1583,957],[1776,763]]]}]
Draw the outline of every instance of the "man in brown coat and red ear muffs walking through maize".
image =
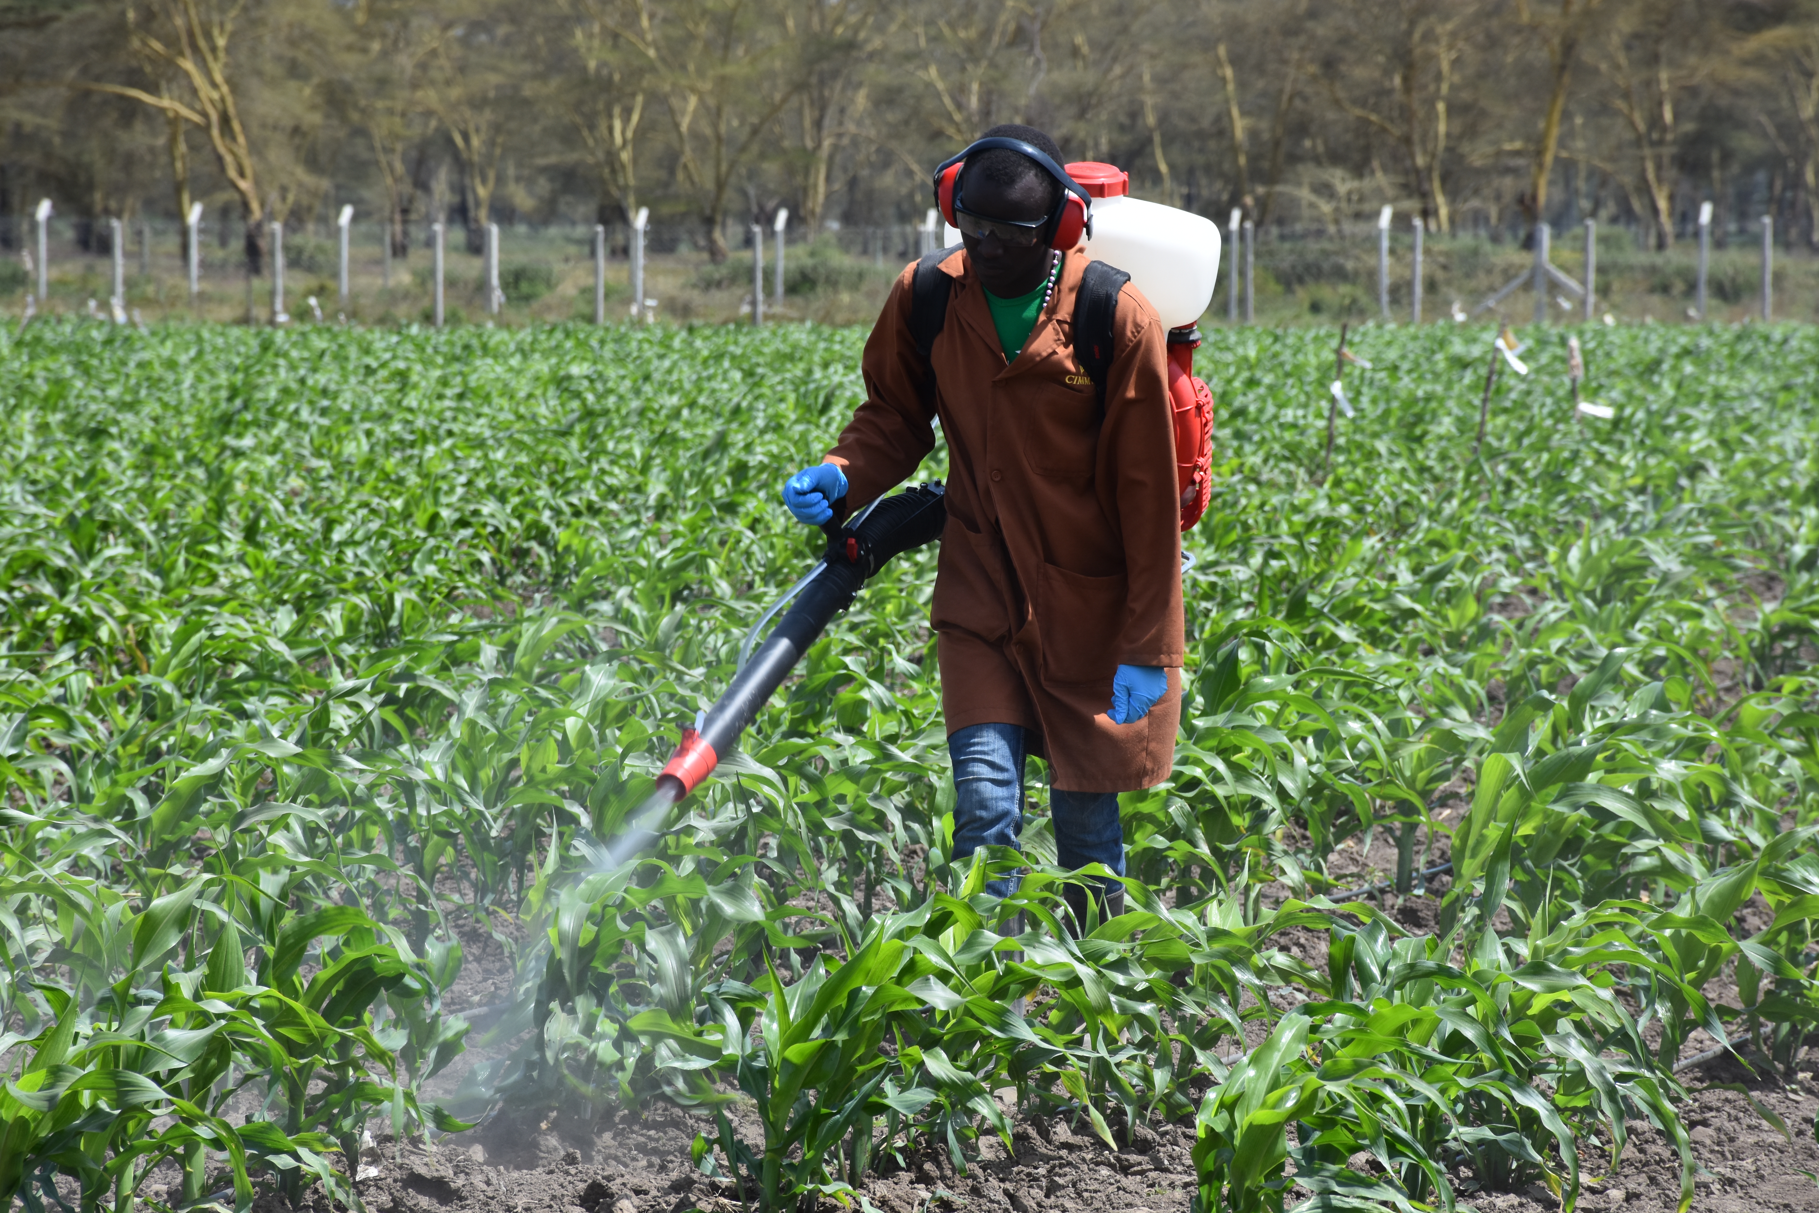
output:
[{"label": "man in brown coat and red ear muffs walking through maize", "polygon": [[[1100,406],[1073,351],[1088,258],[1051,247],[1075,206],[1060,151],[1028,125],[991,127],[988,140],[1019,140],[1048,164],[1004,145],[968,149],[951,200],[940,198],[962,251],[940,264],[951,282],[930,356],[910,327],[911,266],[866,342],[866,402],[822,464],[786,482],[784,504],[809,526],[846,516],[915,471],[940,420],[948,526],[930,624],[955,858],[1017,846],[1033,753],[1051,769],[1059,862],[1122,875],[1117,793],[1168,778],[1181,720],[1166,331],[1126,284]],[[940,184],[937,175],[937,193]],[[988,887],[1004,897],[1015,880]],[[1100,917],[1122,913],[1122,886],[1106,882],[1099,898]],[[1084,924],[1084,889],[1068,904]]]}]

